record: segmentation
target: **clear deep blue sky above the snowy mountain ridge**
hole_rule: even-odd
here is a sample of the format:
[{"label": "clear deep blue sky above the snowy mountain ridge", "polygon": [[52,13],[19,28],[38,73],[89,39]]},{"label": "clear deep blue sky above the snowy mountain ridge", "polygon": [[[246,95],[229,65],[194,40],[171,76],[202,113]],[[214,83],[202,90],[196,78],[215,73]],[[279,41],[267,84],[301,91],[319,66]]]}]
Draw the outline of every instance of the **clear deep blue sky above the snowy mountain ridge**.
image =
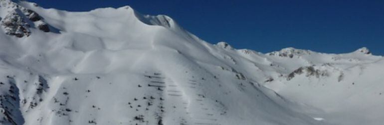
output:
[{"label": "clear deep blue sky above the snowy mountain ridge", "polygon": [[260,52],[285,47],[384,55],[384,0],[29,0],[46,8],[88,11],[130,5],[166,14],[210,43]]}]

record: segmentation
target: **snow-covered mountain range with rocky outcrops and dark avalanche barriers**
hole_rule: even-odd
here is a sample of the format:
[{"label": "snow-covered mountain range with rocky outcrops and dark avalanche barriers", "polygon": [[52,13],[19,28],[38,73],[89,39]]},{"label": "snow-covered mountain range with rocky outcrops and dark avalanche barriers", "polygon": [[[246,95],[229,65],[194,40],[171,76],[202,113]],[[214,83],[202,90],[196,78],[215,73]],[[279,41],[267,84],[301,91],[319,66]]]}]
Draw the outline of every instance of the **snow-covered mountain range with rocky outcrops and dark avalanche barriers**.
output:
[{"label": "snow-covered mountain range with rocky outcrops and dark avalanche barriers", "polygon": [[212,45],[130,6],[0,0],[0,23],[1,125],[384,123],[384,58],[367,48]]}]

